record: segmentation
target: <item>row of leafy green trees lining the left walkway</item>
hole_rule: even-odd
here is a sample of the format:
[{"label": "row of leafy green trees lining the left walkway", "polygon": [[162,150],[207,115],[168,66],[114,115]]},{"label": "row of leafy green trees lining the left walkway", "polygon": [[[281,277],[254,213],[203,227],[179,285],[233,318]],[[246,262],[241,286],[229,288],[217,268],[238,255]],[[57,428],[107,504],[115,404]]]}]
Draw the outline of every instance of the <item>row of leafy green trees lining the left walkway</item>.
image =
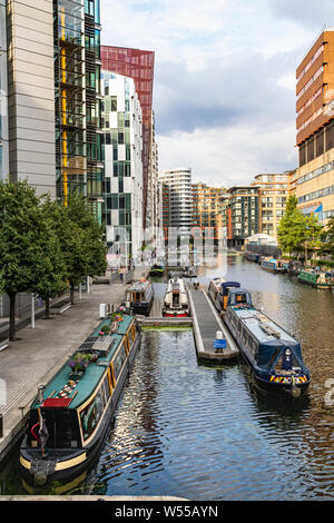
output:
[{"label": "row of leafy green trees lining the left walkway", "polygon": [[10,299],[9,339],[16,339],[16,296],[37,293],[47,304],[82,277],[106,270],[104,230],[86,201],[68,207],[37,197],[27,181],[0,182],[0,289]]}]

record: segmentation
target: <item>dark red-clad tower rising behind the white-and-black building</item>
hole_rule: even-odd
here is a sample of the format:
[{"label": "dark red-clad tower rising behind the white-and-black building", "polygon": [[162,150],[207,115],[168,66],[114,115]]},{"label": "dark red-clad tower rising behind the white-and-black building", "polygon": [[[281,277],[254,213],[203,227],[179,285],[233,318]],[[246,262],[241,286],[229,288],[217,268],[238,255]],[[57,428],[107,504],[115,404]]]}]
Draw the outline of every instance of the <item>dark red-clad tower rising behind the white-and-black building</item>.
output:
[{"label": "dark red-clad tower rising behind the white-and-black building", "polygon": [[153,125],[154,51],[101,46],[102,69],[135,80],[143,111],[144,227],[146,226],[149,176],[150,134]]}]

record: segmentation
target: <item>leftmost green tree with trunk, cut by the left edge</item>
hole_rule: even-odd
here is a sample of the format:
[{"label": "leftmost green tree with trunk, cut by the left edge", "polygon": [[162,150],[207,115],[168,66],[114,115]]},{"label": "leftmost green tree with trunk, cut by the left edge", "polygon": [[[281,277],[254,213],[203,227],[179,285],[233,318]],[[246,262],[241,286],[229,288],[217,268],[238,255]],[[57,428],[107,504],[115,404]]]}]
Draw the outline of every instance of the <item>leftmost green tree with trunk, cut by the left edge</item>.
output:
[{"label": "leftmost green tree with trunk, cut by the left edge", "polygon": [[16,341],[16,297],[32,292],[43,264],[45,220],[27,181],[0,182],[0,274],[10,300],[9,339]]}]

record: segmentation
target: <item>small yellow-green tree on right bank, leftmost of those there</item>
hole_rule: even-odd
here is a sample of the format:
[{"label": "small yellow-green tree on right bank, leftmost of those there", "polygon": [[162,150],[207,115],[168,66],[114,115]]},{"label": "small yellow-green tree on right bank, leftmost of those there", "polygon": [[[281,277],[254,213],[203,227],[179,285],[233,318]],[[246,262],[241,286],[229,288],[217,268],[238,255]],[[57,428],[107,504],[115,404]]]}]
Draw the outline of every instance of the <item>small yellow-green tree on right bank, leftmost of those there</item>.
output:
[{"label": "small yellow-green tree on right bank, leftmost of those there", "polygon": [[306,224],[305,216],[297,209],[297,198],[294,195],[289,196],[277,231],[278,244],[283,251],[292,255],[302,250],[307,236]]}]

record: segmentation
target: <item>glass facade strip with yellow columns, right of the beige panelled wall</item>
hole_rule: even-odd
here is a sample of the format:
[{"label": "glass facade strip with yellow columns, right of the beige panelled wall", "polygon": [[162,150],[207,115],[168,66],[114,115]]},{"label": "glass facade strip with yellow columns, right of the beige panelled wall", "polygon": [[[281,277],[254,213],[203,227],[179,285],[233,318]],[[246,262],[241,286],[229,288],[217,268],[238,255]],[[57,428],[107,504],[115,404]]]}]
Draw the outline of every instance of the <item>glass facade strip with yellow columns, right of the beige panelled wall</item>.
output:
[{"label": "glass facade strip with yellow columns, right of the beige panelled wall", "polygon": [[57,196],[87,195],[85,23],[82,0],[55,0]]}]

